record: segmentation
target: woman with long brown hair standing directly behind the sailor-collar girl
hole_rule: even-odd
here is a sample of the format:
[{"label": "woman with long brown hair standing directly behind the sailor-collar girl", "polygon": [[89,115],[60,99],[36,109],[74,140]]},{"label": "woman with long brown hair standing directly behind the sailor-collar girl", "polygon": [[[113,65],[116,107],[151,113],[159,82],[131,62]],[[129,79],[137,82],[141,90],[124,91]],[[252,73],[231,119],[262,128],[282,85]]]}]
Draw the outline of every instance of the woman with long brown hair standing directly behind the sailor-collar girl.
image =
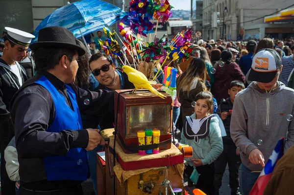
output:
[{"label": "woman with long brown hair standing directly behind the sailor-collar girl", "polygon": [[193,58],[188,69],[176,80],[177,98],[181,103],[182,122],[186,116],[191,116],[194,108],[191,103],[199,92],[206,91],[206,66],[201,58]]}]

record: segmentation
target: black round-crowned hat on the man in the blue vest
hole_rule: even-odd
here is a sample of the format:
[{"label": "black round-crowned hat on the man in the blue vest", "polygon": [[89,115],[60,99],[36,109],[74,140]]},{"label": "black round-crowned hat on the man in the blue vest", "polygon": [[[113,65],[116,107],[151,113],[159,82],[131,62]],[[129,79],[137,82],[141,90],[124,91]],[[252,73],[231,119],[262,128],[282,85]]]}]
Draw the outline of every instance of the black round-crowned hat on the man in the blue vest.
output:
[{"label": "black round-crowned hat on the man in the blue vest", "polygon": [[33,51],[39,48],[52,47],[75,49],[79,56],[86,53],[83,48],[76,45],[73,33],[61,26],[49,26],[40,29],[38,42],[29,46]]}]

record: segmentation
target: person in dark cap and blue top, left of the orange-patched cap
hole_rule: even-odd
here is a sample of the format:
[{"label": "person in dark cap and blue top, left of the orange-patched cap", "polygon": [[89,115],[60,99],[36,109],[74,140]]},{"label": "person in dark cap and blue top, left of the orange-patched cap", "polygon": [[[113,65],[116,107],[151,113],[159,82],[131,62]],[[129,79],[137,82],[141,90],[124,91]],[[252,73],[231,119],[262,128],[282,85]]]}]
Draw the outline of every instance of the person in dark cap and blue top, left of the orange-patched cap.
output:
[{"label": "person in dark cap and blue top, left of the orange-patched cap", "polygon": [[256,46],[257,46],[256,41],[254,41],[254,40],[248,41],[247,45],[246,45],[246,49],[248,51],[248,54],[245,56],[242,56],[240,58],[239,65],[240,65],[240,68],[241,68],[242,72],[244,73],[244,75],[246,75],[246,73],[251,68],[253,54],[254,54]]}]

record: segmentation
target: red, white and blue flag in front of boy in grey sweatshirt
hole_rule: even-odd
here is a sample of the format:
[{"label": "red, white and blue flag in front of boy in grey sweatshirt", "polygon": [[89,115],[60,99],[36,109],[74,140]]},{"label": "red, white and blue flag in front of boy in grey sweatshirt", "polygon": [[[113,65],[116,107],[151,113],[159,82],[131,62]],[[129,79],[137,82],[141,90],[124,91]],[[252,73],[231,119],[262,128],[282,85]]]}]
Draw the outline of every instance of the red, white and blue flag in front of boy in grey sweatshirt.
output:
[{"label": "red, white and blue flag in front of boy in grey sweatshirt", "polygon": [[268,182],[270,181],[272,171],[276,163],[278,162],[278,160],[282,158],[283,154],[284,154],[284,138],[281,138],[278,141],[274,150],[272,151],[266,166],[261,171],[249,195],[263,195],[264,190]]}]

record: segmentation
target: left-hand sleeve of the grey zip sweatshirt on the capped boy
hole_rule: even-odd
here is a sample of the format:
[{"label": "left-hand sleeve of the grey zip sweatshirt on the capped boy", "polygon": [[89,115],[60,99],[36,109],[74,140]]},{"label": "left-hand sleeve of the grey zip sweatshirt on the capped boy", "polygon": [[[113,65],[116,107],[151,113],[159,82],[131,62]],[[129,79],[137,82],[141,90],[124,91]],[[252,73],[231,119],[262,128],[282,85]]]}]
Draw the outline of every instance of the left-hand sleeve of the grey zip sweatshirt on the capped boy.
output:
[{"label": "left-hand sleeve of the grey zip sweatshirt on the capped boy", "polygon": [[249,155],[249,153],[257,147],[247,137],[247,119],[248,117],[243,101],[237,94],[233,106],[230,132],[236,146],[240,147],[243,153]]}]

